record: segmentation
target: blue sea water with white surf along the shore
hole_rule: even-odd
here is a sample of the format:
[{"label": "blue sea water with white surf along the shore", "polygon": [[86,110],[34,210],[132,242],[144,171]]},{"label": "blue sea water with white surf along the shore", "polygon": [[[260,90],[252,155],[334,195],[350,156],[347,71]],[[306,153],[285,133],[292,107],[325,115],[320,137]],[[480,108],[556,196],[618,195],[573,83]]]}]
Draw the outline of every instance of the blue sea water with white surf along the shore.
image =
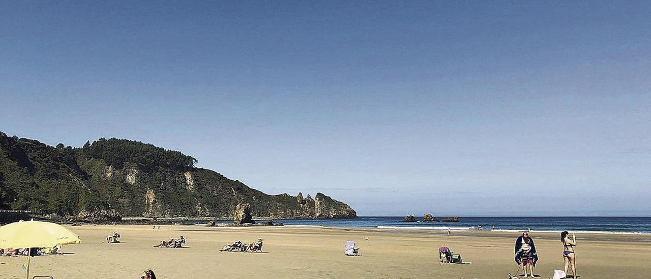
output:
[{"label": "blue sea water with white surf along the shore", "polygon": [[[365,216],[356,219],[278,220],[290,226],[332,226],[380,229],[468,230],[482,226],[495,231],[574,231],[651,234],[651,217],[459,217],[458,223],[400,222],[404,217]],[[422,220],[422,217],[417,217]]]}]

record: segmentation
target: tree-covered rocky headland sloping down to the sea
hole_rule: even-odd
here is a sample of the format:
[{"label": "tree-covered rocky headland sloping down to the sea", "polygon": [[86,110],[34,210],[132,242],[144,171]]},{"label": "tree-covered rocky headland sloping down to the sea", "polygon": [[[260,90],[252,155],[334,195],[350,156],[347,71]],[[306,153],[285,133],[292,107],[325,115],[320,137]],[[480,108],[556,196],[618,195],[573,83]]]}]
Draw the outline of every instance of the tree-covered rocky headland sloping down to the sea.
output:
[{"label": "tree-covered rocky headland sloping down to the sea", "polygon": [[[346,203],[321,193],[314,199],[301,193],[296,197],[264,194],[210,169],[192,167],[185,163],[191,157],[178,151],[159,151],[153,145],[121,139],[100,141],[83,148],[55,148],[0,133],[0,209],[44,210],[98,220],[118,215],[232,218],[238,203],[248,203],[251,214],[258,217],[357,216]],[[148,158],[168,153],[165,164]],[[175,165],[176,160],[184,164]]]}]

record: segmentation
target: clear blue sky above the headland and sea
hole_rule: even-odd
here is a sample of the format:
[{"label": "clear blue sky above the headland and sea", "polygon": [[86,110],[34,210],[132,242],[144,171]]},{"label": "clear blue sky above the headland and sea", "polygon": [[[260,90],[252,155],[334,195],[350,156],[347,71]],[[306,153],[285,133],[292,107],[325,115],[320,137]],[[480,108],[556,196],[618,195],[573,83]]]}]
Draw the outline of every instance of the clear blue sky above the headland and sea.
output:
[{"label": "clear blue sky above the headland and sea", "polygon": [[360,215],[651,215],[651,1],[96,2],[0,2],[1,131]]}]

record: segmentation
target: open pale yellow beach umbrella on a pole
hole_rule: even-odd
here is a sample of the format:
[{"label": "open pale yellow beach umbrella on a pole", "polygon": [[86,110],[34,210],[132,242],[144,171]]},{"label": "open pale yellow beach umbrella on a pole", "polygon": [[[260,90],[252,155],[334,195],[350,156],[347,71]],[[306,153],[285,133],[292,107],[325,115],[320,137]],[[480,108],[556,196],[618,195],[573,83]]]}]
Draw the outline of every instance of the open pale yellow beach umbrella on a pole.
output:
[{"label": "open pale yellow beach umbrella on a pole", "polygon": [[[50,222],[25,221],[0,227],[0,248],[50,248],[67,244],[81,243],[79,236]],[[27,278],[29,262],[27,258]]]}]

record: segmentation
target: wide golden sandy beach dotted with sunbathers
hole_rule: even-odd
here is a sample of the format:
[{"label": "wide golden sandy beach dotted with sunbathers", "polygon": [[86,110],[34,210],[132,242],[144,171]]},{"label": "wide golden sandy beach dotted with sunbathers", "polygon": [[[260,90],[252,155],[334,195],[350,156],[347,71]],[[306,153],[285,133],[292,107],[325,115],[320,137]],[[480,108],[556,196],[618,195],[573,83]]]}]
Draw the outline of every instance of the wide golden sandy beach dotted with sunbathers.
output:
[{"label": "wide golden sandy beach dotted with sunbathers", "polygon": [[[64,246],[62,255],[37,256],[32,275],[54,278],[139,278],[153,269],[158,278],[506,278],[518,266],[513,242],[518,233],[490,231],[385,230],[359,228],[118,225],[68,227],[83,243]],[[122,242],[102,243],[118,231]],[[184,235],[187,248],[153,248]],[[562,269],[556,233],[531,233],[540,261],[536,274],[547,278]],[[264,238],[264,253],[219,252],[237,239]],[[651,235],[577,235],[581,278],[648,278]],[[361,257],[343,255],[344,242],[361,247]],[[449,246],[464,265],[439,263],[437,249]],[[25,278],[27,257],[0,257],[0,278]]]}]

